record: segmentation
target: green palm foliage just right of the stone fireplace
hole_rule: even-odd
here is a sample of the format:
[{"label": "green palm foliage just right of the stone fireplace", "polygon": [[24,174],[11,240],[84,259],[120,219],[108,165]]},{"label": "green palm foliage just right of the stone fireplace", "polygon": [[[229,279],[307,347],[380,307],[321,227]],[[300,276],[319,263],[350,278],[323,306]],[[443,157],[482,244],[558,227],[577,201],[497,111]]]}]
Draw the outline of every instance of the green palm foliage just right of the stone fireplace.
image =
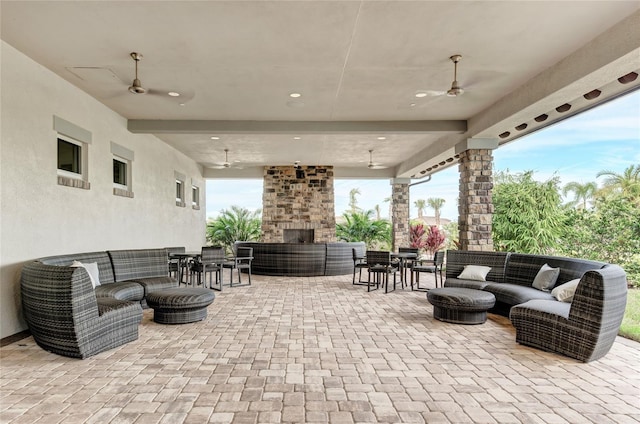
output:
[{"label": "green palm foliage just right of the stone fireplace", "polygon": [[345,212],[345,222],[336,224],[336,236],[341,241],[363,241],[367,249],[391,244],[391,224],[386,220],[374,220],[373,211]]}]

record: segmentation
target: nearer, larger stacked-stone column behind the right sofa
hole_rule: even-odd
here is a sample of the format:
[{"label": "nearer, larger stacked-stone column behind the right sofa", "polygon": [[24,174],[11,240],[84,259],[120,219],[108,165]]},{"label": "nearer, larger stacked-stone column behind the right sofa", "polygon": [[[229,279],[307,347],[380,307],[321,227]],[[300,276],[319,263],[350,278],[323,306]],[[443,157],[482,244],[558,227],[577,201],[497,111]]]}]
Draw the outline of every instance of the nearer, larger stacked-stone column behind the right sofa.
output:
[{"label": "nearer, larger stacked-stone column behind the right sofa", "polygon": [[492,166],[491,149],[468,149],[460,153],[458,229],[461,250],[493,251]]}]

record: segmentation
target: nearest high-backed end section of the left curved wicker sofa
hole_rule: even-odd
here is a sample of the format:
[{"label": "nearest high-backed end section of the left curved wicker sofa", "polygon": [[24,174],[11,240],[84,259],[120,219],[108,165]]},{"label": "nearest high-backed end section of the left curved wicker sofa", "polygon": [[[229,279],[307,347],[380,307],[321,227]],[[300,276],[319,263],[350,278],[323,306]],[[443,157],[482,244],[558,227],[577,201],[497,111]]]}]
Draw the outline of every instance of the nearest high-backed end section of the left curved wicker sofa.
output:
[{"label": "nearest high-backed end section of the left curved wicker sofa", "polygon": [[29,330],[47,351],[84,359],[138,338],[140,303],[96,298],[84,268],[32,262],[20,288]]}]

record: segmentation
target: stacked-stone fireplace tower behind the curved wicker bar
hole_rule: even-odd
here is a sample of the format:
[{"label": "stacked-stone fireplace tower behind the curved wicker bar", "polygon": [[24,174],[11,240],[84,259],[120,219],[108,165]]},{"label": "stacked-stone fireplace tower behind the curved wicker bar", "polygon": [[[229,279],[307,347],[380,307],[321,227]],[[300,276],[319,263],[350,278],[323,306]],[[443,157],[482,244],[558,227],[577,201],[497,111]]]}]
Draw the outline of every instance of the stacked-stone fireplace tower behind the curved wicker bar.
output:
[{"label": "stacked-stone fireplace tower behind the curved wicker bar", "polygon": [[336,241],[333,167],[268,166],[263,187],[263,242]]}]

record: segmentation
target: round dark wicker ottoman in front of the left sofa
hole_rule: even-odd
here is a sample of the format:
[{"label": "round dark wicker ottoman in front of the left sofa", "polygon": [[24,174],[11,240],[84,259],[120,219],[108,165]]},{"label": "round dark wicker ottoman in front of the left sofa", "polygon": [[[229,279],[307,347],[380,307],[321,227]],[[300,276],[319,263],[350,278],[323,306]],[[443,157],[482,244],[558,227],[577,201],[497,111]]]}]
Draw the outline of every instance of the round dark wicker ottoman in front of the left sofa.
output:
[{"label": "round dark wicker ottoman in front of the left sofa", "polygon": [[209,289],[177,287],[149,293],[147,305],[153,308],[153,320],[159,324],[186,324],[205,319],[214,298]]}]

